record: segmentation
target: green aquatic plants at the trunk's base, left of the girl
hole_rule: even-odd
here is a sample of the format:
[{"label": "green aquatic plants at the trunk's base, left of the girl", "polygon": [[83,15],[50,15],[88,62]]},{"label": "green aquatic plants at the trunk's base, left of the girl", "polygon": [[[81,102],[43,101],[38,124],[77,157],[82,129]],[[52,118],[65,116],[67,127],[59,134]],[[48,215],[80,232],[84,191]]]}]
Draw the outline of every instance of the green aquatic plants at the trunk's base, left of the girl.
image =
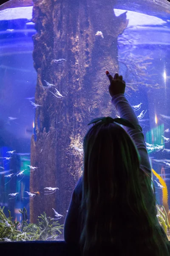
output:
[{"label": "green aquatic plants at the trunk's base, left of the girl", "polygon": [[37,224],[28,224],[27,210],[24,207],[19,212],[23,215],[23,221],[12,221],[11,212],[8,210],[7,218],[0,207],[0,241],[35,241],[56,240],[62,234],[63,224],[47,218],[45,212],[38,216]]}]

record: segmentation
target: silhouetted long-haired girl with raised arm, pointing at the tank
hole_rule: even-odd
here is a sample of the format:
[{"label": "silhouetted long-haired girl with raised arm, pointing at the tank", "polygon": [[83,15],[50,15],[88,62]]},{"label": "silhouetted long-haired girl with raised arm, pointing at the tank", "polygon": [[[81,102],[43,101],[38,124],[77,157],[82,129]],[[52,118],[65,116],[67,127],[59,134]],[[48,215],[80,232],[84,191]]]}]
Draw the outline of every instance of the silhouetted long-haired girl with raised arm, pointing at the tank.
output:
[{"label": "silhouetted long-haired girl with raised arm, pointing at the tank", "polygon": [[106,74],[121,119],[94,119],[85,135],[84,172],[65,219],[65,241],[77,244],[83,256],[168,256],[142,127],[122,76]]}]

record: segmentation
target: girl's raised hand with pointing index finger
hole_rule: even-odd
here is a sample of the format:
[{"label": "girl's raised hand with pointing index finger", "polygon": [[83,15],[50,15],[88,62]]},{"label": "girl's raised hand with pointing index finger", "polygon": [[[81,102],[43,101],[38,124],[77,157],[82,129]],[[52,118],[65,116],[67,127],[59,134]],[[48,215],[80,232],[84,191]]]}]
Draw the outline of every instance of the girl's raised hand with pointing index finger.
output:
[{"label": "girl's raised hand with pointing index finger", "polygon": [[108,76],[108,79],[110,81],[109,93],[111,94],[111,97],[119,93],[125,93],[126,83],[123,80],[123,76],[115,74],[113,78],[113,76],[111,76],[111,74],[108,71],[106,71],[106,75]]}]

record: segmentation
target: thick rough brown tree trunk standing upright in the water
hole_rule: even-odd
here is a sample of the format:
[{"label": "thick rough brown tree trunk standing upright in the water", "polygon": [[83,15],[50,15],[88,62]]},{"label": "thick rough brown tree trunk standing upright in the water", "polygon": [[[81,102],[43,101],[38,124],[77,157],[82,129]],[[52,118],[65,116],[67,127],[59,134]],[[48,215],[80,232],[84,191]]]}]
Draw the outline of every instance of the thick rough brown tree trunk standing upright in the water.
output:
[{"label": "thick rough brown tree trunk standing upright in the water", "polygon": [[[118,72],[117,37],[128,20],[126,14],[114,15],[114,2],[34,0],[35,103],[40,106],[31,138],[31,165],[38,168],[31,172],[30,192],[40,195],[30,200],[31,222],[43,211],[54,217],[52,208],[66,215],[82,175],[83,154],[77,148],[82,148],[87,124],[99,116],[115,116],[105,71]],[[58,59],[64,60],[53,61]],[[44,80],[55,84],[63,98],[52,94],[54,87],[44,89]],[[59,189],[44,195],[45,187]]]}]

